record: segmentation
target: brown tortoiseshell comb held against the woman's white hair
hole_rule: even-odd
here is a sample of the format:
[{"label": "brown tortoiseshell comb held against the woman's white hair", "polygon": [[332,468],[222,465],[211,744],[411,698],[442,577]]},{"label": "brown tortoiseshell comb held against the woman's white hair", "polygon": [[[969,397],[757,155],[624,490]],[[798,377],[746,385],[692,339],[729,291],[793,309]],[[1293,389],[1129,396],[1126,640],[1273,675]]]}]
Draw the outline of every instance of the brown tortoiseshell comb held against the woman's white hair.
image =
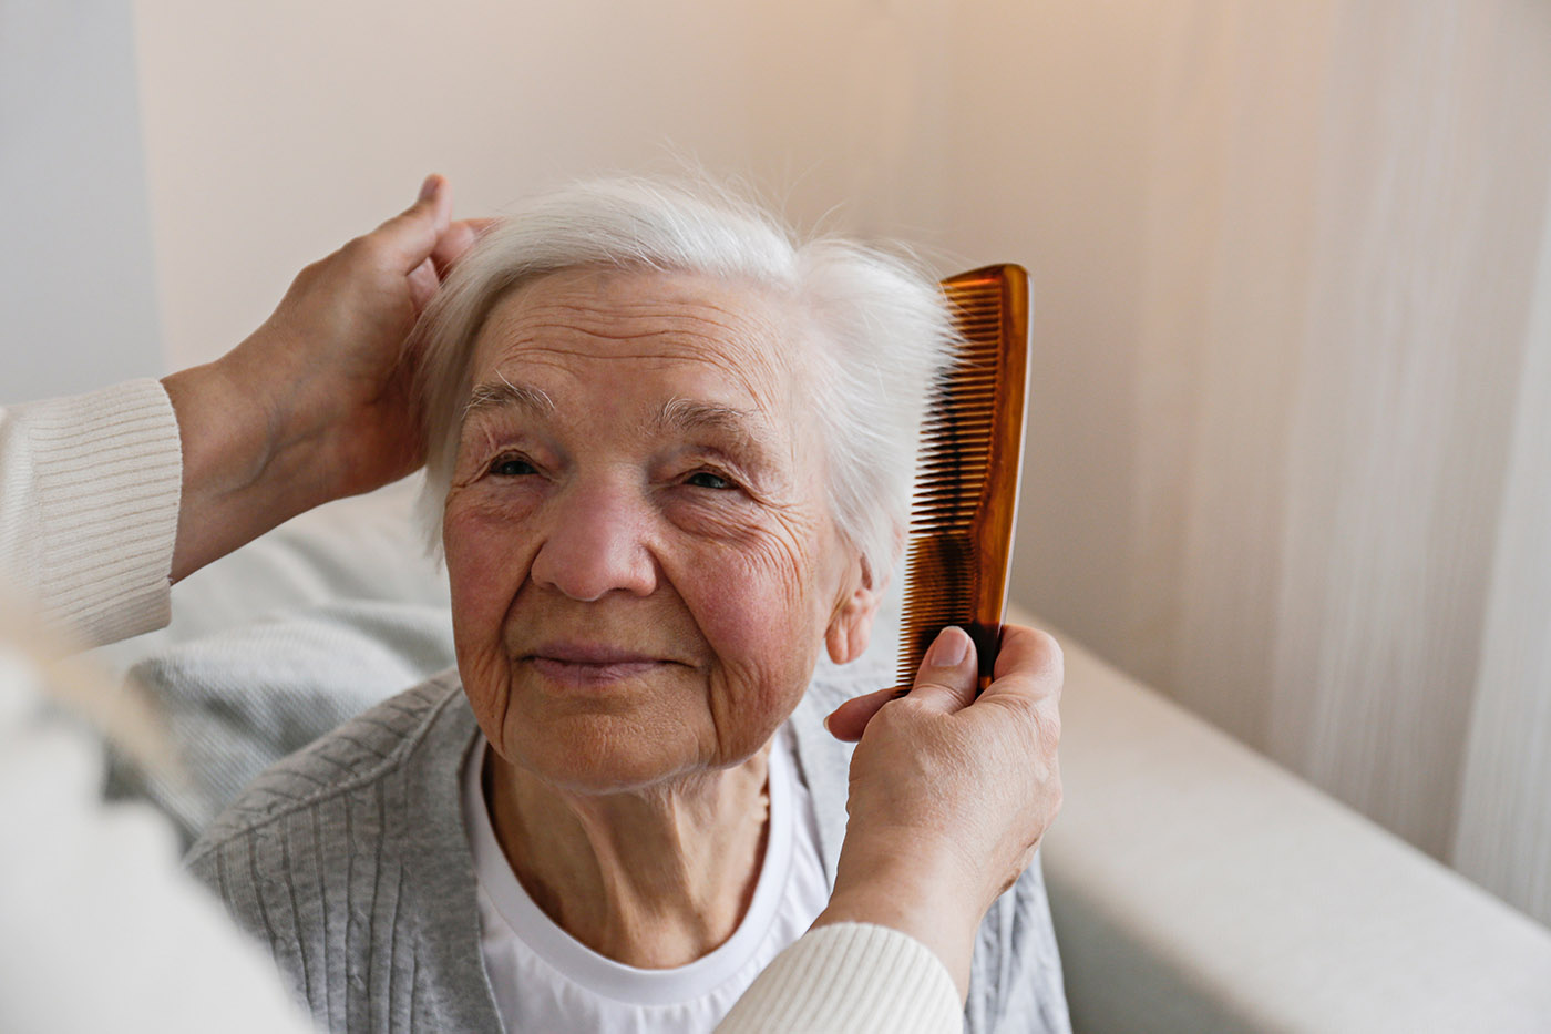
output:
[{"label": "brown tortoiseshell comb held against the woman's white hair", "polygon": [[1028,385],[1028,273],[986,265],[943,281],[960,343],[921,425],[900,621],[900,689],[937,633],[960,626],[991,678],[1007,607]]}]

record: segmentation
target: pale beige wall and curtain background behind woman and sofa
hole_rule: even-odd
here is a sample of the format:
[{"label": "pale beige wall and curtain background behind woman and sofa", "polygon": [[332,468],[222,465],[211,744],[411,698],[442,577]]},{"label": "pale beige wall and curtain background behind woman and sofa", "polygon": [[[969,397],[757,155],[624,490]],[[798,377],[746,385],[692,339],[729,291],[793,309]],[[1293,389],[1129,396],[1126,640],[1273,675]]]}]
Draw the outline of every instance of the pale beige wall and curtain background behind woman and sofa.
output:
[{"label": "pale beige wall and curtain background behind woman and sofa", "polygon": [[0,402],[684,157],[1025,264],[1014,598],[1551,924],[1543,0],[0,0]]}]

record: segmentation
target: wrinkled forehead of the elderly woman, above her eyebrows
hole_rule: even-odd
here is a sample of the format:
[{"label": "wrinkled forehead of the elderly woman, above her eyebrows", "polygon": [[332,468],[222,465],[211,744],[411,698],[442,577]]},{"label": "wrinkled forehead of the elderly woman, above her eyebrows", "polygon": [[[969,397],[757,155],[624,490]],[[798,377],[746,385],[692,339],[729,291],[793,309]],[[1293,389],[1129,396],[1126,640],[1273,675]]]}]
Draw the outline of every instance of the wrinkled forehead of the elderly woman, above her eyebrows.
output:
[{"label": "wrinkled forehead of the elderly woman, above her eyebrows", "polygon": [[[473,382],[624,379],[631,388],[793,402],[797,335],[780,300],[698,273],[571,269],[503,298],[475,342]],[[546,383],[546,387],[549,387]]]}]

